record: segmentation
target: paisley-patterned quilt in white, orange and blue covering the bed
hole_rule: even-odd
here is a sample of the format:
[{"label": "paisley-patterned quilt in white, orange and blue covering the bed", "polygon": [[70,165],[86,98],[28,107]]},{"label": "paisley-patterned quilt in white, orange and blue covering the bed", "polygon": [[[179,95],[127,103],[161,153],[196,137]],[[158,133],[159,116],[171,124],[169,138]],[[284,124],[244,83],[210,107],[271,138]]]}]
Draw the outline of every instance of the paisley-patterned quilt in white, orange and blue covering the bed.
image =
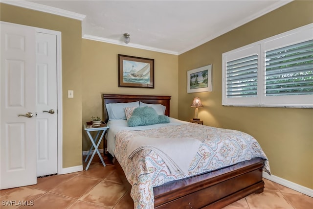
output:
[{"label": "paisley-patterned quilt in white, orange and blue covering the bed", "polygon": [[[136,136],[152,138],[195,138],[201,141],[188,174],[171,173],[159,155],[149,149],[140,150],[127,157],[127,144]],[[267,159],[259,143],[252,136],[235,130],[214,128],[188,123],[169,125],[147,130],[124,130],[115,136],[114,155],[132,185],[131,196],[135,209],[153,209],[153,187],[166,182],[213,171],[253,158]],[[270,173],[268,161],[264,170]]]}]

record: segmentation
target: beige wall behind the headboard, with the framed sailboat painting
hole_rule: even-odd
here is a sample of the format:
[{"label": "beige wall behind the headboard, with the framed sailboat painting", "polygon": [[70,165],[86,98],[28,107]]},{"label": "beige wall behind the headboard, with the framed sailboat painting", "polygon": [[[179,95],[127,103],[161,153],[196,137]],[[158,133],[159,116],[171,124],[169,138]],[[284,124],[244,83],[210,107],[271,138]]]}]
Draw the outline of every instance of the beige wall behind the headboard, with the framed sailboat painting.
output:
[{"label": "beige wall behind the headboard, with the framed sailboat painting", "polygon": [[[117,54],[155,60],[155,88],[118,87]],[[102,117],[102,93],[170,95],[170,115],[178,117],[178,56],[155,51],[82,40],[83,121]],[[83,132],[83,150],[90,146]]]}]

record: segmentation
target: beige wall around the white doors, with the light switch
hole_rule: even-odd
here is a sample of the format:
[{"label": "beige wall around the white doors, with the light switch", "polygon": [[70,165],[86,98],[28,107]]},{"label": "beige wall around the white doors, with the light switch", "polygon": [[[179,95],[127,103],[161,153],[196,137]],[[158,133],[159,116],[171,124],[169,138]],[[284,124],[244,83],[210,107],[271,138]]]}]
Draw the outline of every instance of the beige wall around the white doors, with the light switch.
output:
[{"label": "beige wall around the white doors, with the light switch", "polygon": [[[0,3],[0,21],[62,32],[63,167],[82,164],[81,22]],[[74,98],[67,98],[74,90]]]}]

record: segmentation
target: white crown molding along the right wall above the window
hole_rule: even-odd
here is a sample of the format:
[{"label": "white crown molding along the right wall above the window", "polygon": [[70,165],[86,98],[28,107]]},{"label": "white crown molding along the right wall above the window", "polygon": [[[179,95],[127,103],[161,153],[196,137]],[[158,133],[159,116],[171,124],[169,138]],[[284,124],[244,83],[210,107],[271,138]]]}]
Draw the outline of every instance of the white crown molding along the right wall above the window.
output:
[{"label": "white crown molding along the right wall above the window", "polygon": [[238,21],[237,23],[232,24],[230,27],[226,27],[222,31],[218,31],[214,35],[212,35],[212,36],[210,36],[210,37],[208,37],[206,39],[203,39],[202,41],[198,42],[197,44],[194,44],[192,46],[189,46],[189,47],[179,51],[178,54],[185,53],[186,51],[189,51],[189,50],[191,50],[193,48],[201,46],[202,44],[205,44],[208,41],[211,41],[211,40],[213,40],[213,39],[215,39],[215,38],[217,38],[217,37],[219,37],[219,36],[229,32],[229,31],[231,31],[231,30],[233,30],[233,29],[235,29],[237,27],[240,27],[241,25],[244,25],[244,24],[246,24],[246,23],[248,23],[250,21],[253,21],[253,20],[255,20],[255,19],[257,19],[257,18],[259,18],[259,17],[261,17],[261,16],[263,16],[263,15],[265,15],[265,14],[267,14],[267,13],[269,13],[269,12],[271,12],[271,11],[277,9],[277,8],[279,8],[279,7],[284,6],[285,4],[290,3],[291,1],[293,1],[293,0],[279,0],[275,4],[273,4],[271,6],[268,6],[268,7],[264,8],[264,9],[260,10],[259,12],[254,13],[253,15],[247,16],[245,19],[242,19],[242,20]]}]

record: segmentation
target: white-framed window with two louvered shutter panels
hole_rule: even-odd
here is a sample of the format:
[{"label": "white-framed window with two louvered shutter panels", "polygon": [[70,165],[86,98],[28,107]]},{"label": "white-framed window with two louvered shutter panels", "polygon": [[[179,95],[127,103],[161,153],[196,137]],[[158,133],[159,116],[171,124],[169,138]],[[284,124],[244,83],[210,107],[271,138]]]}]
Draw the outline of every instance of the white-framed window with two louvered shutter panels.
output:
[{"label": "white-framed window with two louvered shutter panels", "polygon": [[222,104],[313,108],[313,23],[222,55]]}]

